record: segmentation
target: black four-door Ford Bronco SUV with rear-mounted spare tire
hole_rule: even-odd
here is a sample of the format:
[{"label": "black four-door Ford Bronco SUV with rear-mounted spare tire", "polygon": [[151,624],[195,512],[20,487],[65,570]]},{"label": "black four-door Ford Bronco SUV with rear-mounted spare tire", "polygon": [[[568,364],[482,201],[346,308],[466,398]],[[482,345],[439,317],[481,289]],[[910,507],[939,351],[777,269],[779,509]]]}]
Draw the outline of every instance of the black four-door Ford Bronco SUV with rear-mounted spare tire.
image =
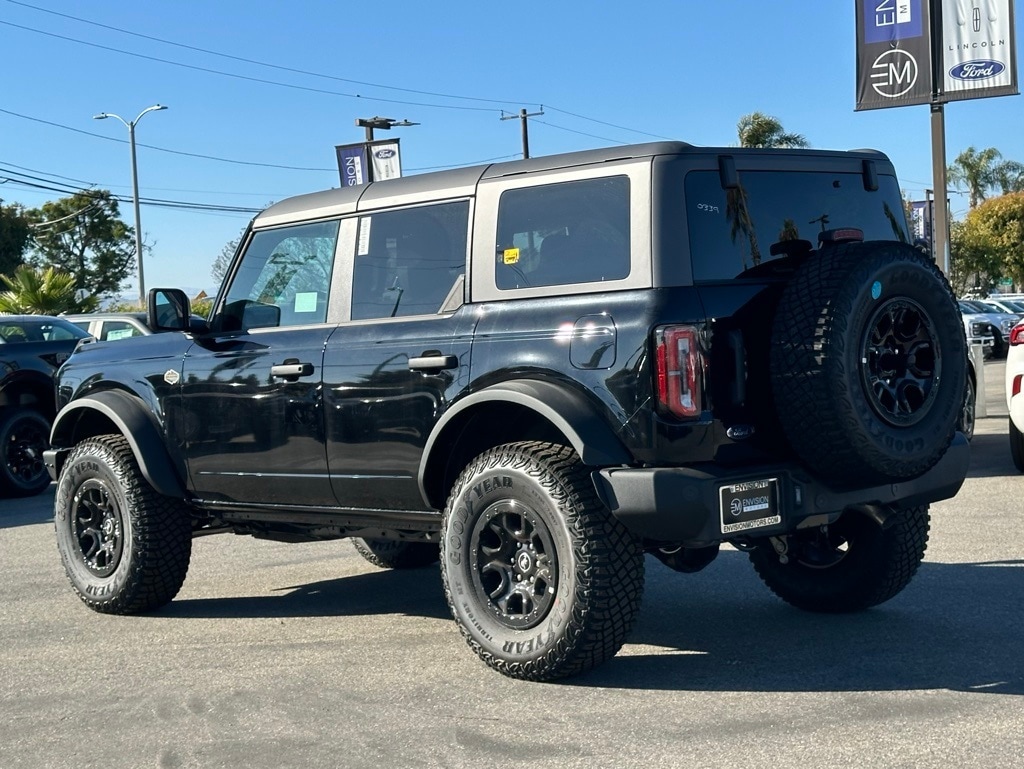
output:
[{"label": "black four-door Ford Bronco SUV with rear-mounted spare tire", "polygon": [[781,599],[912,578],[969,462],[964,327],[873,151],[662,142],[286,200],[209,317],[76,351],[47,464],[97,611],[214,531],[440,560],[463,636],[547,680],[613,656],[644,556],[726,543]]}]

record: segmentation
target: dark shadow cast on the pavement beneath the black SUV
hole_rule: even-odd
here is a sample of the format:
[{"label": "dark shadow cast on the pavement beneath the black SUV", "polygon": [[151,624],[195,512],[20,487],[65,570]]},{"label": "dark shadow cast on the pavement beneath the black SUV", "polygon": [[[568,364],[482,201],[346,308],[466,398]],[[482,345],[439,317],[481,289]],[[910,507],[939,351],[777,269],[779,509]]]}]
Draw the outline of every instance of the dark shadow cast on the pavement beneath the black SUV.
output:
[{"label": "dark shadow cast on the pavement beneath the black SUV", "polygon": [[[647,558],[644,609],[623,651],[563,685],[702,691],[950,689],[1024,694],[1024,559],[925,562],[892,601],[856,614],[792,608],[746,556],[697,574]],[[168,617],[408,614],[449,618],[437,567],[374,571],[275,595],[178,600]],[[446,653],[465,653],[453,633]]]}]

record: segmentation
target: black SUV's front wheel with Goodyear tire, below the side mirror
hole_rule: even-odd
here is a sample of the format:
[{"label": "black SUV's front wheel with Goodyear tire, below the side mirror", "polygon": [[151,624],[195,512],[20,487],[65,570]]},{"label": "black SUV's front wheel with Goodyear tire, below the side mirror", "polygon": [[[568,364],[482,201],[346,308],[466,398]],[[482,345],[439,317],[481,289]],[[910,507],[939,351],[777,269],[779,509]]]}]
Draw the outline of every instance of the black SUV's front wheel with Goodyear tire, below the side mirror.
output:
[{"label": "black SUV's front wheel with Goodyear tire, below the side mirror", "polygon": [[191,557],[187,510],[154,490],[123,436],[72,450],[53,512],[65,571],[89,608],[134,614],[177,595]]}]

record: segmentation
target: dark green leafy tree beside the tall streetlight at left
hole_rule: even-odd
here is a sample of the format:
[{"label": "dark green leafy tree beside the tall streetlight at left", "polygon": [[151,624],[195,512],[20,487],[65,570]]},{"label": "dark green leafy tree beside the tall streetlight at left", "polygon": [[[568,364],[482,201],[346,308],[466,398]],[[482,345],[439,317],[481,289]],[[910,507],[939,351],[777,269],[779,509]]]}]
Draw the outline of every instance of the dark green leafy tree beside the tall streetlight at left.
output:
[{"label": "dark green leafy tree beside the tall streetlight at left", "polygon": [[121,290],[135,267],[134,230],[104,189],[76,193],[29,212],[35,239],[29,262],[74,275],[96,297]]}]

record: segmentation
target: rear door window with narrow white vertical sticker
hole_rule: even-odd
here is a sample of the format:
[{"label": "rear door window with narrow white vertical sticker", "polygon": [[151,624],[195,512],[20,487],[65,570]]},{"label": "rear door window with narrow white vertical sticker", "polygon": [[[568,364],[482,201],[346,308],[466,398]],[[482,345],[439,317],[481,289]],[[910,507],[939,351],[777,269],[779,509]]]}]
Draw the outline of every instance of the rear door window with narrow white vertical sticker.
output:
[{"label": "rear door window with narrow white vertical sticker", "polygon": [[440,310],[466,271],[468,229],[468,201],[360,216],[352,319]]}]

